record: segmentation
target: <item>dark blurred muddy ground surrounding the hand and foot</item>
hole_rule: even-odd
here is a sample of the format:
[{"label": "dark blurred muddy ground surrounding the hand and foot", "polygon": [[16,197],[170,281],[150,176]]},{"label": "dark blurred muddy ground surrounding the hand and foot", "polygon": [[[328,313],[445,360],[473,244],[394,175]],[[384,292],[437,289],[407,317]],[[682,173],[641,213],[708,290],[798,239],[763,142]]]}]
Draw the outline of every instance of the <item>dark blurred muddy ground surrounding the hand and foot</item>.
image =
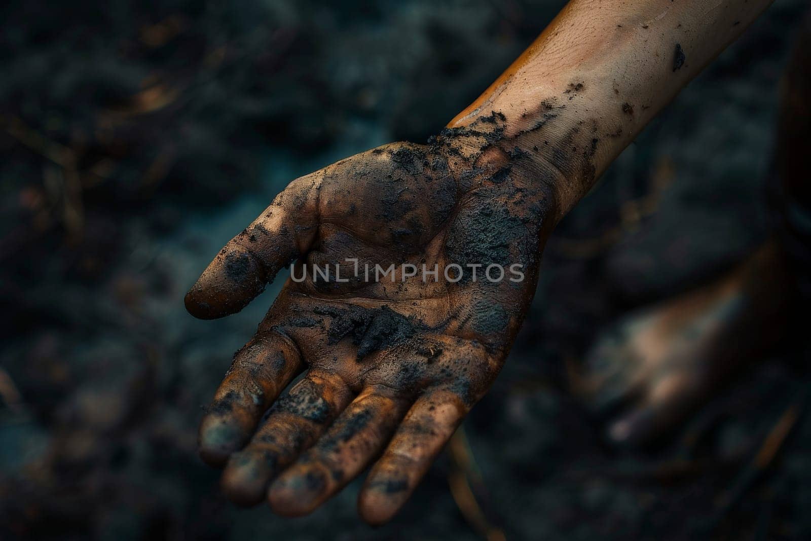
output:
[{"label": "dark blurred muddy ground surrounding the hand and foot", "polygon": [[182,306],[198,273],[292,178],[439,131],[563,3],[2,6],[0,537],[811,539],[796,356],[653,453],[604,445],[562,377],[612,320],[766,238],[805,0],[777,0],[560,225],[495,388],[391,524],[359,521],[357,482],[311,517],[237,509],[196,456],[201,406],[278,289],[198,321]]}]

